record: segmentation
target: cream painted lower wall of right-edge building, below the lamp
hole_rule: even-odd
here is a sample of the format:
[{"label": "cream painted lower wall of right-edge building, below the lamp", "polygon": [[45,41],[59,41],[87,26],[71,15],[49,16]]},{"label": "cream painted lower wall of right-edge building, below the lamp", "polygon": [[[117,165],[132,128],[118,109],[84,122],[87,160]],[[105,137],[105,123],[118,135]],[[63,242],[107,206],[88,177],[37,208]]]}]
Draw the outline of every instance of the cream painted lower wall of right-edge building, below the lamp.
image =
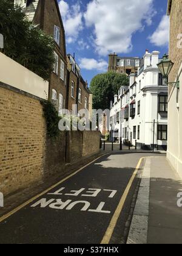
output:
[{"label": "cream painted lower wall of right-edge building, below the lamp", "polygon": [[169,95],[167,158],[182,178],[182,64],[178,76],[180,76],[179,104],[177,104],[177,88],[174,88]]}]

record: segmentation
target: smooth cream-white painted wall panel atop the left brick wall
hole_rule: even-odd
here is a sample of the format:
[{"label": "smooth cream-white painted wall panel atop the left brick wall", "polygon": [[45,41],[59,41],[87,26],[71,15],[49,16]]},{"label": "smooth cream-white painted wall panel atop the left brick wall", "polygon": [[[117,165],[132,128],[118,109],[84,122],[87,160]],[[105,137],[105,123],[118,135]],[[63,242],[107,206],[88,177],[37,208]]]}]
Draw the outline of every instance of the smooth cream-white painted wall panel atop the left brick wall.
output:
[{"label": "smooth cream-white painted wall panel atop the left brick wall", "polygon": [[0,81],[26,93],[47,99],[49,82],[0,52]]}]

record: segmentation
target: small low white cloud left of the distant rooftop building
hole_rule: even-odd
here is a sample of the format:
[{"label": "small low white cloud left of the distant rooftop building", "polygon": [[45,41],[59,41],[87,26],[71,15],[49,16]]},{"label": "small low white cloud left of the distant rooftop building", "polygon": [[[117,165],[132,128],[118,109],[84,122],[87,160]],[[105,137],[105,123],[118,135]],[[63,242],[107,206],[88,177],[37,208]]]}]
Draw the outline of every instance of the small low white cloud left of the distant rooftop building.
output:
[{"label": "small low white cloud left of the distant rooftop building", "polygon": [[87,70],[93,70],[96,69],[98,71],[107,71],[108,63],[105,60],[95,60],[95,59],[87,59],[83,58],[79,60],[79,66],[80,68],[87,69]]}]

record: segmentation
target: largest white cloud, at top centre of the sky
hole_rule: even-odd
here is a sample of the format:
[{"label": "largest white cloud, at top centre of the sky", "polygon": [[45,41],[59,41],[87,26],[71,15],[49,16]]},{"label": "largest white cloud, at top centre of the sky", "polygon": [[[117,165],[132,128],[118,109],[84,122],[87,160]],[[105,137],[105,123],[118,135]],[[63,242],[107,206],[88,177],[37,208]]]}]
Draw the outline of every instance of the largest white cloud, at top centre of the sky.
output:
[{"label": "largest white cloud, at top centre of the sky", "polygon": [[96,51],[127,53],[132,35],[152,23],[153,0],[92,0],[84,13],[87,26],[94,27]]}]

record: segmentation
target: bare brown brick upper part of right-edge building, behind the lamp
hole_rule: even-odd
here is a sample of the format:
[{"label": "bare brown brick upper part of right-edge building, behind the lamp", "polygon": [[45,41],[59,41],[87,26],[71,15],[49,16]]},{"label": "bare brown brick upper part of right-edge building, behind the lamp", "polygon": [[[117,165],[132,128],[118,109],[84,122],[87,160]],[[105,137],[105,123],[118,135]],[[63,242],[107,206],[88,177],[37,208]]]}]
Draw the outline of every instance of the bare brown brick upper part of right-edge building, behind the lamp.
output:
[{"label": "bare brown brick upper part of right-edge building, behind the lamp", "polygon": [[[174,62],[174,67],[169,75],[169,81],[175,81],[182,61],[182,49],[177,48],[178,34],[182,34],[182,2],[173,0],[170,12],[170,46],[169,57]],[[169,87],[171,90],[172,87]]]}]

